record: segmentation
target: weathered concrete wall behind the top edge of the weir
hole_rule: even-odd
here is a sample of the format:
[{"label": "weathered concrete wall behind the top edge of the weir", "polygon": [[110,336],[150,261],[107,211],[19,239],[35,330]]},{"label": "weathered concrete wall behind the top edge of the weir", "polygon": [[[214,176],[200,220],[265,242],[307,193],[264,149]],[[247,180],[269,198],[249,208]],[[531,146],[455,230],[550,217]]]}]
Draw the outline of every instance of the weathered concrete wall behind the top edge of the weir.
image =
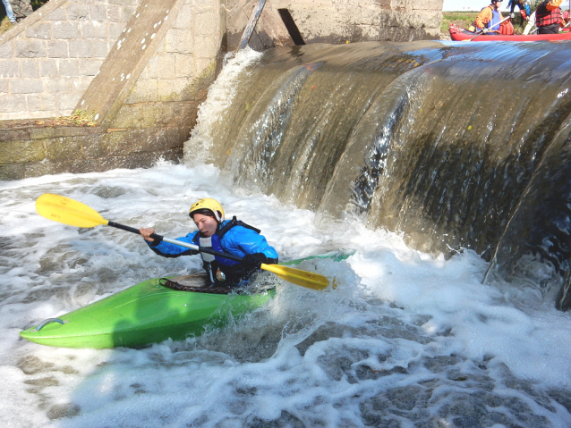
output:
[{"label": "weathered concrete wall behind the top edge of the weir", "polygon": [[[226,0],[228,45],[237,46],[258,2]],[[305,43],[438,39],[443,0],[268,0],[251,46],[292,45],[277,11],[287,9]]]}]

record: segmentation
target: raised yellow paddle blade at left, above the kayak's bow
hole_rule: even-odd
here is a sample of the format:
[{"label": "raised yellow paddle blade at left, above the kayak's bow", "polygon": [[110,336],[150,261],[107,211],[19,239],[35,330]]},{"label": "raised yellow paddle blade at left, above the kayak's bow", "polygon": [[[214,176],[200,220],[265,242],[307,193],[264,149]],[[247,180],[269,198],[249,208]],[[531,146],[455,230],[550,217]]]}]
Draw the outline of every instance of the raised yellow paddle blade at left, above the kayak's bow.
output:
[{"label": "raised yellow paddle blade at left, above the kayak's bow", "polygon": [[108,222],[93,208],[69,197],[52,193],[44,193],[38,197],[36,211],[49,220],[75,227],[95,227]]}]

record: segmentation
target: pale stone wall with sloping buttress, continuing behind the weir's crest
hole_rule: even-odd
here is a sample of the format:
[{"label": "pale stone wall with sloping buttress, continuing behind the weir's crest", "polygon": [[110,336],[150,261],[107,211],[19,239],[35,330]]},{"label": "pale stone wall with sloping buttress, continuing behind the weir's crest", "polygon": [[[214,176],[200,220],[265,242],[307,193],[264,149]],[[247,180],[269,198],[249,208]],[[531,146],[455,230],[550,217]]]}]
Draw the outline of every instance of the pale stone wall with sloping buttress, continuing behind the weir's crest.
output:
[{"label": "pale stone wall with sloping buttress, continuing behind the weir's crest", "polygon": [[[259,0],[51,0],[0,37],[0,180],[177,161]],[[250,46],[438,38],[442,0],[268,0]],[[280,12],[281,10],[281,12]],[[93,113],[89,128],[46,118]],[[41,120],[36,120],[41,119]]]}]

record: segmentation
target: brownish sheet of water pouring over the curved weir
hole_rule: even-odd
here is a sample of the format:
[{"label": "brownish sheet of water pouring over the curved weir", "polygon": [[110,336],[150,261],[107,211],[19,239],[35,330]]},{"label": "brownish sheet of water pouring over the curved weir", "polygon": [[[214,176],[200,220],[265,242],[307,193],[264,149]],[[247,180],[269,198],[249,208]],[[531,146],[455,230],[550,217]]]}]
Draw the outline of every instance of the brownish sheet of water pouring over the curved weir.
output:
[{"label": "brownish sheet of water pouring over the curved weir", "polygon": [[[400,231],[413,248],[473,249],[486,281],[566,310],[566,43],[361,43],[273,49],[185,145],[320,219]],[[201,157],[200,157],[201,156]]]}]

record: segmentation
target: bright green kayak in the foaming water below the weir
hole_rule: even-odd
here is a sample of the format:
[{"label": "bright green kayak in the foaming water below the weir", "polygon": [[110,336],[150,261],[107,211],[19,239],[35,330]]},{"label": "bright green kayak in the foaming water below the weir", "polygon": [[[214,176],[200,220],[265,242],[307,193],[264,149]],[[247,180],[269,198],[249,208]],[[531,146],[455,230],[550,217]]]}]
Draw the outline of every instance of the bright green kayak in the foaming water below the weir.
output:
[{"label": "bright green kayak in the foaming water below the weir", "polygon": [[[350,255],[336,252],[317,257],[338,261]],[[300,264],[309,258],[314,257],[287,264]],[[253,293],[208,289],[198,275],[155,278],[59,318],[48,318],[20,335],[62,348],[133,348],[169,338],[183,340],[199,336],[207,326],[222,327],[231,317],[264,305],[275,290],[263,289]]]}]

